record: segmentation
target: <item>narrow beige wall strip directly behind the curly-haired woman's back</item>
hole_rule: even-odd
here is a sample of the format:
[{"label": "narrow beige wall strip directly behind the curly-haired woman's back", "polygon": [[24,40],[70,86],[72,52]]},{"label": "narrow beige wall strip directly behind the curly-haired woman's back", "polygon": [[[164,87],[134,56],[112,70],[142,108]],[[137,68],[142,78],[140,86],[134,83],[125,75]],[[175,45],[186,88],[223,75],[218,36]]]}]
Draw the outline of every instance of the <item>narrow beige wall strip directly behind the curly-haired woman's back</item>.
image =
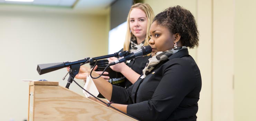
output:
[{"label": "narrow beige wall strip directly behind the curly-haired woman's back", "polygon": [[202,77],[202,89],[198,101],[198,121],[212,119],[212,2],[197,0],[197,24],[199,30],[199,47],[197,64]]}]

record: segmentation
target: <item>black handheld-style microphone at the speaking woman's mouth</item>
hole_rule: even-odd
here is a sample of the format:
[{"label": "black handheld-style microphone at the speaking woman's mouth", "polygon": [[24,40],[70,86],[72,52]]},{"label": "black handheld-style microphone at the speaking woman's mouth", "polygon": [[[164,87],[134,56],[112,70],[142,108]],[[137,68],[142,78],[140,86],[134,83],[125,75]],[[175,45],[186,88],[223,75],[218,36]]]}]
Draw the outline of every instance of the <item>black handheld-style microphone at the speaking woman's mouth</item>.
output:
[{"label": "black handheld-style microphone at the speaking woman's mouth", "polygon": [[118,58],[117,60],[111,62],[110,64],[108,65],[115,65],[117,63],[122,63],[124,61],[127,61],[127,60],[132,60],[134,58],[137,58],[137,57],[140,57],[140,56],[145,56],[149,53],[152,52],[152,48],[150,46],[144,46],[134,52],[131,52],[131,53],[128,53],[126,56],[123,56],[121,58]]}]

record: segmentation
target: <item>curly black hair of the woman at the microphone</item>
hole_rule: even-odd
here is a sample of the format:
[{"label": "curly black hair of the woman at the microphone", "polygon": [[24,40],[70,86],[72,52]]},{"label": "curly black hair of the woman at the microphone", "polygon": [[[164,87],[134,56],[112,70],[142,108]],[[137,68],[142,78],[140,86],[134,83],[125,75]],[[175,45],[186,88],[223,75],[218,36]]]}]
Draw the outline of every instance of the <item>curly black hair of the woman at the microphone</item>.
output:
[{"label": "curly black hair of the woman at the microphone", "polygon": [[180,7],[170,7],[155,16],[156,21],[162,27],[167,27],[171,33],[179,33],[183,46],[194,48],[198,46],[199,32],[194,16],[190,11]]}]

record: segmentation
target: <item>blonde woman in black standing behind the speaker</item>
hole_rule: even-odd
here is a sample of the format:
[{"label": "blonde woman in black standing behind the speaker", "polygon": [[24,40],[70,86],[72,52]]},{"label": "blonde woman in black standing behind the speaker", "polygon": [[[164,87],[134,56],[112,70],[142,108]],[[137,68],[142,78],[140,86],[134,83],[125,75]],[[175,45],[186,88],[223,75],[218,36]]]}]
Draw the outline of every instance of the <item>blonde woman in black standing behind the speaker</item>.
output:
[{"label": "blonde woman in black standing behind the speaker", "polygon": [[[134,4],[127,17],[127,32],[124,42],[124,47],[121,51],[129,50],[134,52],[142,46],[149,45],[149,29],[154,19],[154,13],[149,4],[136,3]],[[111,66],[110,68],[116,72],[121,72],[125,77],[124,88],[130,87],[142,74],[142,70],[146,65],[147,60],[151,56],[144,56],[135,58],[127,63],[119,63]],[[109,58],[108,61],[112,62],[117,58]],[[109,77],[105,77],[108,79]]]}]

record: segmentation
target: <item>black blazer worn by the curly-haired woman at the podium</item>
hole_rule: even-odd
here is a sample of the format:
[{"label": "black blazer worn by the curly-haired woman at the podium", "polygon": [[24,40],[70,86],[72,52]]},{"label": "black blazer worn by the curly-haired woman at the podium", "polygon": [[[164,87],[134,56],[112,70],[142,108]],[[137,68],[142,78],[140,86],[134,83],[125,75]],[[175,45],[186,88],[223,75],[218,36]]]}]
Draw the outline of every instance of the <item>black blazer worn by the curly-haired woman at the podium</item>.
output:
[{"label": "black blazer worn by the curly-haired woman at the podium", "polygon": [[200,70],[183,49],[130,88],[113,85],[111,101],[128,104],[127,113],[139,120],[196,121],[200,90]]}]

